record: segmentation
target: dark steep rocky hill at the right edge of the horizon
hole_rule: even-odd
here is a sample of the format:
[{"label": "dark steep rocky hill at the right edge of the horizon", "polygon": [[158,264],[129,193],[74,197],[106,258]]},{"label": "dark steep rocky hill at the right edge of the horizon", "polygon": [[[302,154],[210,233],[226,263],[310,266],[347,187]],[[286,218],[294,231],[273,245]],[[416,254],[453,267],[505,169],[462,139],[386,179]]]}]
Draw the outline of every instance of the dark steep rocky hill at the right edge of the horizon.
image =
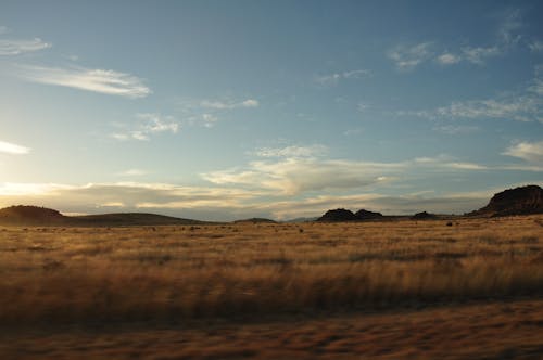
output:
[{"label": "dark steep rocky hill at the right edge of the horizon", "polygon": [[468,215],[494,217],[542,213],[543,189],[538,185],[527,185],[494,194],[487,206]]}]

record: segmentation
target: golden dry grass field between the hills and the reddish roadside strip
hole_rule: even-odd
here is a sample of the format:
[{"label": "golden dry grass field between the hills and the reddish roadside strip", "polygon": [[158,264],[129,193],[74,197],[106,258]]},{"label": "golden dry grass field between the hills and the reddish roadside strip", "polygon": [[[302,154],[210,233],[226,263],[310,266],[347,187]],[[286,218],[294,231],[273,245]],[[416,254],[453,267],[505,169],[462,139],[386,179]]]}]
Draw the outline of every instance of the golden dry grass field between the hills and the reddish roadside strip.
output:
[{"label": "golden dry grass field between the hills and the reddish roadside strip", "polygon": [[0,322],[176,322],[541,295],[542,221],[0,228]]}]

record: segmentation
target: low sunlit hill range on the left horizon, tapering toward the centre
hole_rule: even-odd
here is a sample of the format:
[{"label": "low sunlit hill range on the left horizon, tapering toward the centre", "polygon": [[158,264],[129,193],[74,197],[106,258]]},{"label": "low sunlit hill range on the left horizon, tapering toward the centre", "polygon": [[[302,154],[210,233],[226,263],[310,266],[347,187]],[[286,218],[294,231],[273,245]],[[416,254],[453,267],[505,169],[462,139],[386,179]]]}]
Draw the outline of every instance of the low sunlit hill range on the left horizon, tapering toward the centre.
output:
[{"label": "low sunlit hill range on the left horizon, tapering toward the centre", "polygon": [[0,224],[4,226],[124,227],[202,223],[206,222],[146,213],[64,216],[54,209],[29,205],[0,209]]}]

